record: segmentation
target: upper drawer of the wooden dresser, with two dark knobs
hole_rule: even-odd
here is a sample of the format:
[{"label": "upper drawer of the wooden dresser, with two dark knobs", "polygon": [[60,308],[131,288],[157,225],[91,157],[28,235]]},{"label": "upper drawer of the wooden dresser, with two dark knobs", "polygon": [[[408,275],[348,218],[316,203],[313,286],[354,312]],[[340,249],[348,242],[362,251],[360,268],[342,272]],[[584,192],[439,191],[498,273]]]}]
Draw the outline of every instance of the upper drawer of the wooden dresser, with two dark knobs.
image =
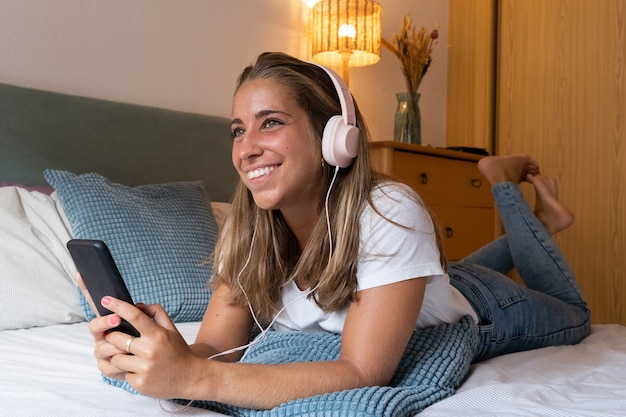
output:
[{"label": "upper drawer of the wooden dresser, with two dark knobs", "polygon": [[491,187],[476,162],[396,151],[393,166],[394,177],[428,205],[493,207]]}]

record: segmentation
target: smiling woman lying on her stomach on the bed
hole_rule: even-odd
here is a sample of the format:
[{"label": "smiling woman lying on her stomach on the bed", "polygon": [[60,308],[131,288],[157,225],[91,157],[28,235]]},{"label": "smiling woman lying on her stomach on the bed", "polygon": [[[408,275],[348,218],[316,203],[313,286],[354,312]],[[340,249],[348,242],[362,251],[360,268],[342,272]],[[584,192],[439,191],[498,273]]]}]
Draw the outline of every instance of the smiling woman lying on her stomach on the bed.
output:
[{"label": "smiling woman lying on her stomach on the bed", "polygon": [[[104,374],[157,398],[264,409],[387,385],[416,328],[468,314],[480,331],[475,361],[576,343],[588,334],[589,311],[550,239],[573,216],[537,163],[526,155],[480,161],[507,234],[448,266],[419,197],[370,171],[358,109],[359,130],[349,134],[356,142],[348,146],[356,155],[347,164],[322,157],[327,122],[350,112],[341,87],[327,70],[280,53],[262,54],[244,70],[231,123],[241,180],[216,248],[219,272],[196,343],[184,342],[160,306],[104,297],[100,302],[115,314],[90,325]],[[521,181],[536,189],[535,214],[519,192]],[[528,288],[503,275],[514,266]],[[121,317],[141,337],[105,333]],[[237,363],[251,332],[270,324],[340,333],[340,358]]]}]

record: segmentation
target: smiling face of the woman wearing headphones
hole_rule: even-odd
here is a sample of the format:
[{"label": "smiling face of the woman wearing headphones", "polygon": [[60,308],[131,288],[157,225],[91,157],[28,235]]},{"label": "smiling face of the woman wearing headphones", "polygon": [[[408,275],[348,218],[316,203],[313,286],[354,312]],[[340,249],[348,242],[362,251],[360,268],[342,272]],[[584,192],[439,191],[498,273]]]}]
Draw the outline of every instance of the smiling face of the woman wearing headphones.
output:
[{"label": "smiling face of the woman wearing headphones", "polygon": [[315,221],[321,149],[290,90],[268,79],[246,81],[233,100],[233,165],[262,209],[291,223]]}]

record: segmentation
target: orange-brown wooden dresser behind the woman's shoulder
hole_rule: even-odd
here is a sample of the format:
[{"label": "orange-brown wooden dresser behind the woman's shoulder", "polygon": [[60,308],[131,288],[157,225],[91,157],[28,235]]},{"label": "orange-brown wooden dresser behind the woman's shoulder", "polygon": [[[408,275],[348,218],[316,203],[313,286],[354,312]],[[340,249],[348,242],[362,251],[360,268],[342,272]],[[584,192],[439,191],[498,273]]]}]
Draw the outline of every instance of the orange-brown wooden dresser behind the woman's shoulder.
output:
[{"label": "orange-brown wooden dresser behind the woman's shoulder", "polygon": [[399,142],[372,142],[375,170],[410,185],[436,217],[448,259],[457,260],[495,236],[491,189],[476,167],[481,157]]}]

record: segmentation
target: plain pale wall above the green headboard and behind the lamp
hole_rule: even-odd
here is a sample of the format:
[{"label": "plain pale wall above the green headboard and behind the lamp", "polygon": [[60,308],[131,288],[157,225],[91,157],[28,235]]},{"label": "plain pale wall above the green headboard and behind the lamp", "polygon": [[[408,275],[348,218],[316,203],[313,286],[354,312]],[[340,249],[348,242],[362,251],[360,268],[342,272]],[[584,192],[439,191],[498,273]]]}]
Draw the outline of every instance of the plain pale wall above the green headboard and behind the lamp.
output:
[{"label": "plain pale wall above the green headboard and behind the lamp", "polygon": [[[380,0],[383,36],[402,15],[440,22],[420,92],[423,143],[444,145],[447,0]],[[174,110],[230,115],[235,80],[263,51],[309,59],[301,0],[0,0],[0,82]],[[387,50],[350,87],[375,140],[391,140],[404,90]]]}]

